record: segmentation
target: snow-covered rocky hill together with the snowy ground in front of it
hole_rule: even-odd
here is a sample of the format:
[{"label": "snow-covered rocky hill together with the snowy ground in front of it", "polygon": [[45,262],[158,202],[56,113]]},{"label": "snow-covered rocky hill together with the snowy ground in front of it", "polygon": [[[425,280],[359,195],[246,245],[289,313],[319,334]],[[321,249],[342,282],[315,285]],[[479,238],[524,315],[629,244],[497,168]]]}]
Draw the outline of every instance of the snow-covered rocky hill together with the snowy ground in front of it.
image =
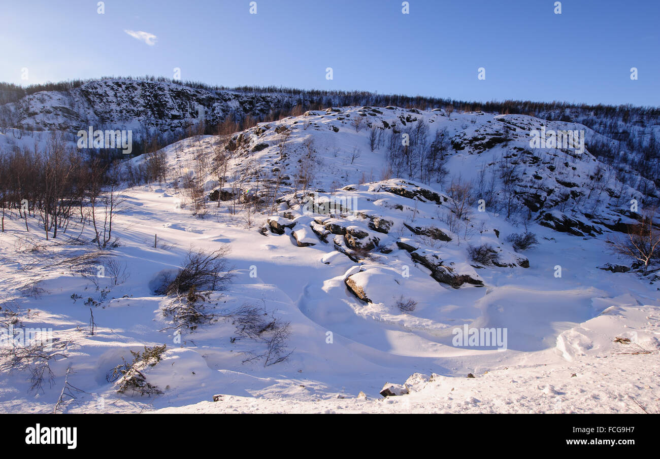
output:
[{"label": "snow-covered rocky hill together with the snowy ground in front of it", "polygon": [[[168,113],[183,111],[172,103]],[[577,131],[585,148],[534,148],[534,131]],[[3,323],[53,328],[58,355],[41,391],[29,390],[30,369],[5,367],[0,407],[52,411],[66,378],[84,390],[61,405],[67,412],[657,410],[657,277],[601,267],[630,264],[606,239],[658,191],[595,158],[594,142],[611,139],[529,115],[390,106],[329,107],[176,142],[158,153],[161,183],[122,190],[117,247],[67,241],[92,239],[80,219],[54,241],[38,220],[29,232],[5,222]],[[121,177],[153,158],[119,164]],[[510,236],[526,231],[539,245],[514,247]],[[181,332],[168,313],[181,300],[155,291],[191,247],[229,247],[235,276],[199,300],[222,317]],[[85,264],[114,274],[90,276]],[[254,358],[270,344],[238,331],[242,307],[288,322],[288,359]],[[457,341],[463,330],[498,339]],[[141,369],[162,393],[118,394],[123,380],[108,372],[162,344]],[[381,400],[385,385],[402,395]]]}]

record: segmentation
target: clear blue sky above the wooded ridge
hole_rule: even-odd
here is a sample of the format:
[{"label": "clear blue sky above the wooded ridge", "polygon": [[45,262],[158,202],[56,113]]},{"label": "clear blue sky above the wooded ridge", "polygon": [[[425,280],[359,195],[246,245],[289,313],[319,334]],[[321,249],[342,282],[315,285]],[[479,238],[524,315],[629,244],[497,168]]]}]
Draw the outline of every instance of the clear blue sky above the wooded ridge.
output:
[{"label": "clear blue sky above the wooded ridge", "polygon": [[401,0],[3,3],[0,80],[16,84],[179,67],[224,86],[660,106],[656,0],[564,0],[560,15],[554,0],[409,0],[408,15]]}]

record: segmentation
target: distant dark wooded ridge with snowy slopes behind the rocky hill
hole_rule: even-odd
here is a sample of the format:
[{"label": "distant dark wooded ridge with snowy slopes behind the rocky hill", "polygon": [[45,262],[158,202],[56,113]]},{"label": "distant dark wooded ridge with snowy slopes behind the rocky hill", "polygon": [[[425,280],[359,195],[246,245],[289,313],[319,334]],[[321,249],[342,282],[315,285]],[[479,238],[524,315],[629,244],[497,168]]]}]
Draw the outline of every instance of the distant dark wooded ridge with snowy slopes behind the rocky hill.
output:
[{"label": "distant dark wooded ridge with snowy slopes behind the rocky hill", "polygon": [[131,129],[133,154],[154,151],[191,135],[229,134],[260,121],[276,121],[307,110],[343,106],[397,106],[430,110],[451,106],[459,113],[484,111],[532,115],[579,123],[603,137],[589,152],[606,164],[636,171],[660,186],[660,108],[587,106],[565,102],[466,102],[364,91],[295,88],[225,88],[166,78],[99,78],[22,88],[0,83],[0,133],[59,130],[75,140],[80,129]]}]

